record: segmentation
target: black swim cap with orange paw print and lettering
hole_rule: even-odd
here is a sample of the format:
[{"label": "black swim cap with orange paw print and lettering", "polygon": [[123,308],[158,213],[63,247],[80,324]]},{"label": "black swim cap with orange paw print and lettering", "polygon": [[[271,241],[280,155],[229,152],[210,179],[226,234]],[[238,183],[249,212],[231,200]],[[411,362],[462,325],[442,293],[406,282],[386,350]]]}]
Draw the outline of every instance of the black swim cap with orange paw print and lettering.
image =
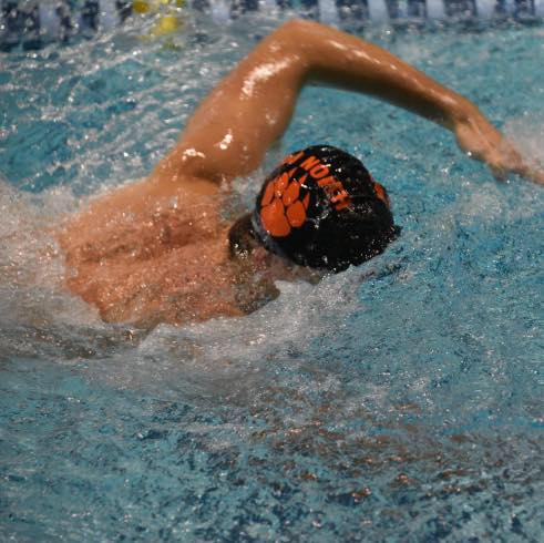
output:
[{"label": "black swim cap with orange paw print and lettering", "polygon": [[372,258],[398,233],[386,189],[358,158],[328,145],[281,162],[257,196],[253,226],[273,253],[332,272]]}]

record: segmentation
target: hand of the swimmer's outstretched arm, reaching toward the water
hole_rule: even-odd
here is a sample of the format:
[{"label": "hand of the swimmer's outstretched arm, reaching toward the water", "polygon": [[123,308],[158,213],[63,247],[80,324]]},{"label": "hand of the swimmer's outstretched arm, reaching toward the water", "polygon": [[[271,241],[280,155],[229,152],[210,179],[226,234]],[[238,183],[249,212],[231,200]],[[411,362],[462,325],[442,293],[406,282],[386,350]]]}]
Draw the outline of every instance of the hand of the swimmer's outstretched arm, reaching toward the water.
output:
[{"label": "hand of the swimmer's outstretched arm, reaching toward the water", "polygon": [[544,185],[544,171],[528,164],[472,104],[453,122],[453,132],[459,146],[472,158],[485,162],[495,178],[504,181],[513,173]]}]

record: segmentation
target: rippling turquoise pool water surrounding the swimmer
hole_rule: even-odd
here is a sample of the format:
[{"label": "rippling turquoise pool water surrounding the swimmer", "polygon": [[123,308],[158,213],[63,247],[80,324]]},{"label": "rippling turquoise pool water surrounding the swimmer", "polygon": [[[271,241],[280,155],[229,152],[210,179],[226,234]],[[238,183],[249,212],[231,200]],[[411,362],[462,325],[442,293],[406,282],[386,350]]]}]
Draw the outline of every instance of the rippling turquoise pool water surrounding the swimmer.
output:
[{"label": "rippling turquoise pool water surrounding the swimmer", "polygon": [[[355,153],[400,238],[244,318],[102,324],[62,289],[50,226],[145,175],[276,21],[195,19],[166,42],[132,24],[0,57],[0,539],[540,541],[542,188],[307,89],[267,162]],[[542,27],[366,35],[544,158]],[[246,205],[261,174],[237,183]]]}]

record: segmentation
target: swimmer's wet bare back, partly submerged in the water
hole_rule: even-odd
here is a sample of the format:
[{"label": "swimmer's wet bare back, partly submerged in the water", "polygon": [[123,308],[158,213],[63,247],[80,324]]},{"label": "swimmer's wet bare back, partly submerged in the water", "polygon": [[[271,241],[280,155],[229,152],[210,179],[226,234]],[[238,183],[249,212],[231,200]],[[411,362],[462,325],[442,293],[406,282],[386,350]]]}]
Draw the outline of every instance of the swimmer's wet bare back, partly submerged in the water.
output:
[{"label": "swimmer's wet bare back, partly submerged in the water", "polygon": [[217,186],[147,178],[91,202],[58,238],[70,290],[107,321],[239,315]]}]

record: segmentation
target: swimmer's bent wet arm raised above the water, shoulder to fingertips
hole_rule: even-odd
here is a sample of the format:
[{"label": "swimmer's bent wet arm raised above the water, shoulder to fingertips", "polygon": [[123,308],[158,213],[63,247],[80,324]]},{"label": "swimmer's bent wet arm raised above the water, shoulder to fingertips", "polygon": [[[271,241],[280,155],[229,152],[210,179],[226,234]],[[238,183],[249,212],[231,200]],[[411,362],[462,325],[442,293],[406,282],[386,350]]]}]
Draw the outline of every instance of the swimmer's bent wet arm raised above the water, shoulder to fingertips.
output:
[{"label": "swimmer's bent wet arm raised above the water, shoulder to fingertips", "polygon": [[383,49],[322,24],[292,20],[265,38],[203,101],[160,178],[214,181],[254,171],[281,136],[305,83],[316,81],[383,99],[441,124],[493,173],[544,183],[479,109]]}]

